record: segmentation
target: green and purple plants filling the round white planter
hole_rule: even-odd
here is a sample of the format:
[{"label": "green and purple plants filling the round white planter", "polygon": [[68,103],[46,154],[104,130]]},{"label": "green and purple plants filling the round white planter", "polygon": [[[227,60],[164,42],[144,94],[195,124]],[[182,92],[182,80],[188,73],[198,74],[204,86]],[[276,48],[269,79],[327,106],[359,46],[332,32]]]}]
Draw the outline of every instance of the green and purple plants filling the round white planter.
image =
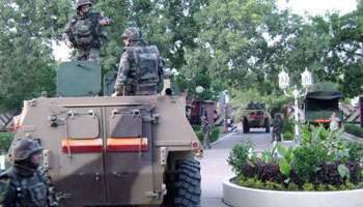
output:
[{"label": "green and purple plants filling the round white planter", "polygon": [[[241,185],[249,187],[261,186],[262,182],[262,189],[269,190],[359,188],[355,184],[363,180],[359,177],[363,148],[343,142],[341,133],[342,130],[331,132],[324,127],[303,125],[301,143],[297,146],[285,148],[277,144],[257,156],[251,143],[239,144],[233,148],[228,162],[241,178]],[[254,185],[257,181],[258,185]]]}]

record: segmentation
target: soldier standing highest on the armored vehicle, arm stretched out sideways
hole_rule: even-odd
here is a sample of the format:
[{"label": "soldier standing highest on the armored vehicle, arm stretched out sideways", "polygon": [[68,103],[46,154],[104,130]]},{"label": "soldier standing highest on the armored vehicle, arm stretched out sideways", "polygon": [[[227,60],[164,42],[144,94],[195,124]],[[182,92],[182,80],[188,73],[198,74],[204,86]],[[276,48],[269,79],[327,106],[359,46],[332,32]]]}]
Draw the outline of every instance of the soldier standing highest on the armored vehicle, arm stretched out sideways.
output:
[{"label": "soldier standing highest on the armored vehicle, arm stretched out sideways", "polygon": [[97,12],[91,12],[90,0],[77,1],[77,16],[72,17],[63,35],[69,48],[77,49],[77,60],[99,62],[99,49],[106,42],[103,26],[111,20]]}]

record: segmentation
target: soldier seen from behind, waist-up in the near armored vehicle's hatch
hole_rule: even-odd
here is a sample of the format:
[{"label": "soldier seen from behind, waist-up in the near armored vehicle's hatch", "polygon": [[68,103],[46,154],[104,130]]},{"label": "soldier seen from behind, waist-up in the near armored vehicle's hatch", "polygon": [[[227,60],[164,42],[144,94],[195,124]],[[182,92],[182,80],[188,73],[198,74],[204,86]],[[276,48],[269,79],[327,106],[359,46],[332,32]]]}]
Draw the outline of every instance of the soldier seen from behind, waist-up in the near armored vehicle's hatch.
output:
[{"label": "soldier seen from behind, waist-up in the near armored vehicle's hatch", "polygon": [[125,48],[113,96],[158,94],[163,88],[163,64],[158,47],[148,45],[137,28],[127,28],[123,41]]}]

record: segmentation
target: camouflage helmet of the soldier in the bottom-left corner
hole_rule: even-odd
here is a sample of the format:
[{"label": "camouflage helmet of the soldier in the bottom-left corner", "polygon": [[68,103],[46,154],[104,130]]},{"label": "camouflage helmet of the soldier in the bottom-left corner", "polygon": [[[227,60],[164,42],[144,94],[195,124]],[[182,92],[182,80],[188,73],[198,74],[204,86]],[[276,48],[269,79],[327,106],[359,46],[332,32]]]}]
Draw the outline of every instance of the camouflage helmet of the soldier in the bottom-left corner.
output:
[{"label": "camouflage helmet of the soldier in the bottom-left corner", "polygon": [[21,138],[19,139],[14,148],[12,159],[15,160],[25,160],[29,158],[33,153],[40,152],[43,148],[38,144],[37,141]]}]

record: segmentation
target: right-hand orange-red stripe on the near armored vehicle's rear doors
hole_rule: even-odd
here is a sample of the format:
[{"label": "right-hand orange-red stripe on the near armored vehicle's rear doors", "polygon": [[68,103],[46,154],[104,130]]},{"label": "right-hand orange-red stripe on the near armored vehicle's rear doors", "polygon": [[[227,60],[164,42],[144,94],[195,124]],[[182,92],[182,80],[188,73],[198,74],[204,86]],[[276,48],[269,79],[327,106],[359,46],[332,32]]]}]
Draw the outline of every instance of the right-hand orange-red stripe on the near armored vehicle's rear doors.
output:
[{"label": "right-hand orange-red stripe on the near armored vehicle's rear doors", "polygon": [[108,138],[107,152],[145,152],[149,150],[147,138]]}]

